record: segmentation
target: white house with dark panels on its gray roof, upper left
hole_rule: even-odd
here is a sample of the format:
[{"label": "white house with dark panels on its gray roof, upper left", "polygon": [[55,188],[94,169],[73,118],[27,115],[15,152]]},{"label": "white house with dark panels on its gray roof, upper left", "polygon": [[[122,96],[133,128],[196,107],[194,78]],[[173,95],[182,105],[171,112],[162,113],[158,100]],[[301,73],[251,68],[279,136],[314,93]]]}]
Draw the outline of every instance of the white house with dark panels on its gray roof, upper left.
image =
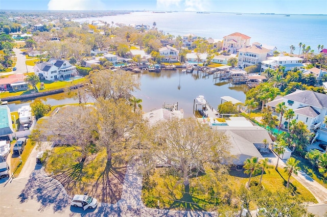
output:
[{"label": "white house with dark panels on its gray roof, upper left", "polygon": [[54,58],[51,58],[48,62],[36,64],[33,69],[41,80],[65,80],[79,74],[76,66],[66,60]]}]

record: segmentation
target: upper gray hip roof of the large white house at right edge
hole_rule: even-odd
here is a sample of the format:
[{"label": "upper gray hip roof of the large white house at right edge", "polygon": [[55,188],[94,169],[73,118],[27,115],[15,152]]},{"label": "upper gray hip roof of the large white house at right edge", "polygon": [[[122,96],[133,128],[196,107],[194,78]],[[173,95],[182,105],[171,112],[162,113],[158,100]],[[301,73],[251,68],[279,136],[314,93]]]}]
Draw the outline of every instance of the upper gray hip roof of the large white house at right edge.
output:
[{"label": "upper gray hip roof of the large white house at right edge", "polygon": [[318,108],[327,108],[327,95],[310,90],[296,90],[284,96],[285,99],[304,103]]}]

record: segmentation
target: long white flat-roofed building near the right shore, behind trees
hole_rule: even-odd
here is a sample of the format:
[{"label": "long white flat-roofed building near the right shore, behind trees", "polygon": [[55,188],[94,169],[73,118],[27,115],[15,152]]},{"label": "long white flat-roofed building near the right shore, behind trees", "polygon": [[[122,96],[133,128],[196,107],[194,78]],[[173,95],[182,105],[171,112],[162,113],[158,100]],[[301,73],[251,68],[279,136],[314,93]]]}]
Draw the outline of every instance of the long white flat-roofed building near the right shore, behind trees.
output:
[{"label": "long white flat-roofed building near the right shore, behind trees", "polygon": [[303,68],[303,59],[299,57],[277,56],[268,57],[267,59],[268,60],[261,61],[261,72],[264,72],[266,69],[275,70],[279,66],[284,66],[286,72],[294,68]]}]

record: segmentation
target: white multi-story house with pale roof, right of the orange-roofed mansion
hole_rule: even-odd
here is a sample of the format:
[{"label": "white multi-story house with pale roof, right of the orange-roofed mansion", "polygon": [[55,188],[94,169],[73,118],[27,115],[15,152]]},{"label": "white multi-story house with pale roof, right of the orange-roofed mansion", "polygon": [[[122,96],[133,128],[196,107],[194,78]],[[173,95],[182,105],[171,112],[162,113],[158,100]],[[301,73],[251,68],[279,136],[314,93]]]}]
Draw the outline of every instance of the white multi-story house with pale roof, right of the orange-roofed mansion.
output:
[{"label": "white multi-story house with pale roof, right of the orange-roofed mansion", "polygon": [[262,61],[265,61],[269,51],[270,50],[260,45],[252,45],[250,47],[240,48],[238,50],[238,67],[245,68],[247,66],[253,66]]}]

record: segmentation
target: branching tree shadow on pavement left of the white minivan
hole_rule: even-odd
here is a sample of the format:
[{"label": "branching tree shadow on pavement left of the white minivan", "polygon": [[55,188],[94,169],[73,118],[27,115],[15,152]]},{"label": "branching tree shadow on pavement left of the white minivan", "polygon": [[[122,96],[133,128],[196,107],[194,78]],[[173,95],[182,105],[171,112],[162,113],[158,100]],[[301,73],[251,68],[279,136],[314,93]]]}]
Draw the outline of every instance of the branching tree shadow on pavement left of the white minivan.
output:
[{"label": "branching tree shadow on pavement left of the white minivan", "polygon": [[20,203],[35,199],[41,203],[38,211],[53,206],[53,211],[62,211],[68,205],[68,196],[64,187],[54,178],[47,176],[44,171],[33,171],[25,188],[18,195]]}]

